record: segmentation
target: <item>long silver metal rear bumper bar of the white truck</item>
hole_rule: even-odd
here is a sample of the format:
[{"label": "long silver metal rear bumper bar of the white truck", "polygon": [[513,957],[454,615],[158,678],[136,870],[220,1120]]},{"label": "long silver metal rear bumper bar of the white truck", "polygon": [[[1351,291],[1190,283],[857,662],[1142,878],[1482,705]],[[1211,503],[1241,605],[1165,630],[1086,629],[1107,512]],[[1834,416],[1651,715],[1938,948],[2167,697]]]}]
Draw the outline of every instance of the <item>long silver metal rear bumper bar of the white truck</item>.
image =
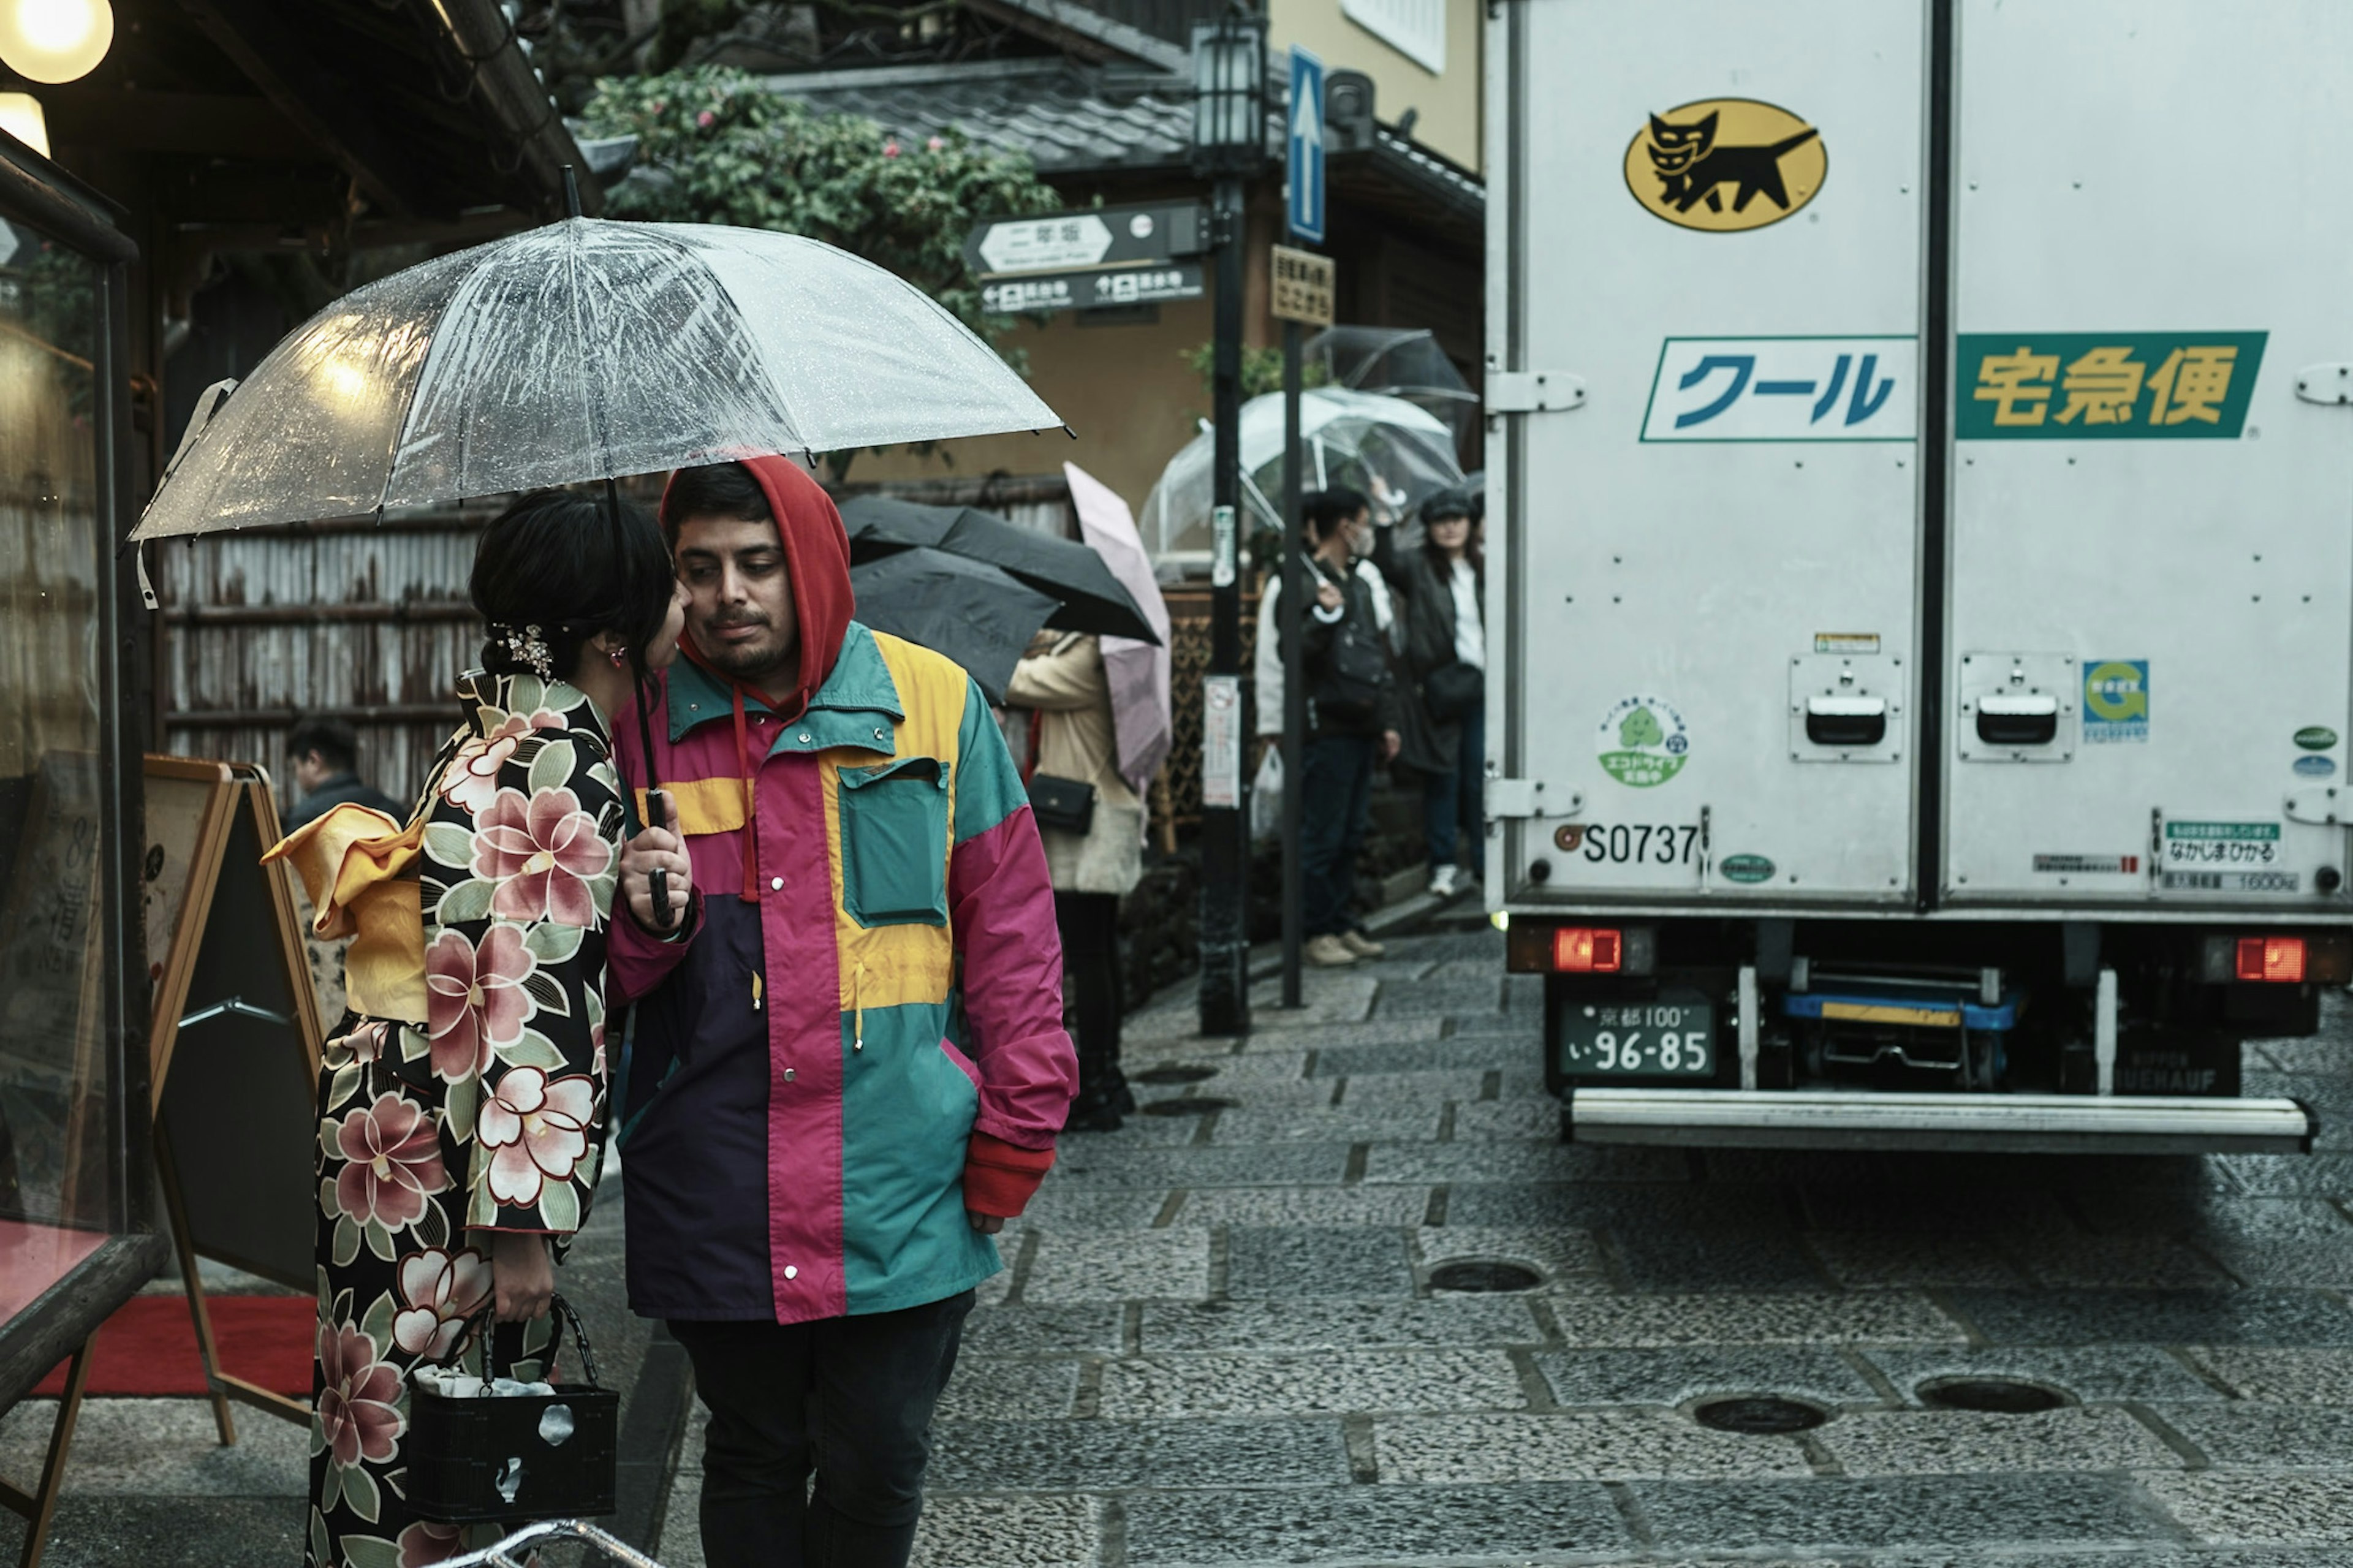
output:
[{"label": "long silver metal rear bumper bar of the white truck", "polygon": [[2320,1123],[2294,1099],[1572,1088],[1562,1128],[1579,1144],[2308,1154]]}]

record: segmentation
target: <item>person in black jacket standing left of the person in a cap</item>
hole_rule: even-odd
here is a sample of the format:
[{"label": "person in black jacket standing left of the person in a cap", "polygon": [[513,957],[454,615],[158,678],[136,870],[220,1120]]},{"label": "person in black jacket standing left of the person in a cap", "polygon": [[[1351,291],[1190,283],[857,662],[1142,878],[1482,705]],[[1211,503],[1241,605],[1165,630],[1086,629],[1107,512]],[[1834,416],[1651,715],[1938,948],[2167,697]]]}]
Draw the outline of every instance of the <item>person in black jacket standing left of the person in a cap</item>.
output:
[{"label": "person in black jacket standing left of the person in a cap", "polygon": [[1372,768],[1398,756],[1402,720],[1372,586],[1355,572],[1355,558],[1372,553],[1372,509],[1355,490],[1320,490],[1299,511],[1315,572],[1299,645],[1308,695],[1299,777],[1306,958],[1337,968],[1384,951],[1355,928],[1351,904],[1355,852],[1372,819]]}]

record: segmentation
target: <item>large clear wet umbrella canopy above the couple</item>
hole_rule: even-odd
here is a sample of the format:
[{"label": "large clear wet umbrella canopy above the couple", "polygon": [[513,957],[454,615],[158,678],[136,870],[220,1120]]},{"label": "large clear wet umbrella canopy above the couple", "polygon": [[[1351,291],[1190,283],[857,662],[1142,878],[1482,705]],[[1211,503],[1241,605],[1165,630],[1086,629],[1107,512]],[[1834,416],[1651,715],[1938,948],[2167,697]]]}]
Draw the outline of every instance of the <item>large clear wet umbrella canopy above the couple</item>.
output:
[{"label": "large clear wet umbrella canopy above the couple", "polygon": [[819,240],[567,219],[353,290],[184,443],[134,539],[1061,419]]}]

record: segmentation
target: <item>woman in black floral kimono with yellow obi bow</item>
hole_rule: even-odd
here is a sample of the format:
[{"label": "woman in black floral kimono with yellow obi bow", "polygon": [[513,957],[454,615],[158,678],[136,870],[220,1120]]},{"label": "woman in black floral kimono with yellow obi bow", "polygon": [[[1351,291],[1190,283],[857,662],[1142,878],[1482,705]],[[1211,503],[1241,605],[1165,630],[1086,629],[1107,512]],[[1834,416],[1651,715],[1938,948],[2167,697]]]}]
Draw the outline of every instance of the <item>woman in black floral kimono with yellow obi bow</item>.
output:
[{"label": "woman in black floral kimono with yellow obi bow", "polygon": [[[605,928],[652,921],[666,833],[624,843],[612,730],[633,671],[678,650],[682,598],[635,506],[534,492],[485,532],[482,669],[407,826],[339,805],[273,850],[351,935],[351,1012],[318,1081],[318,1377],[311,1568],[414,1568],[464,1549],[407,1507],[409,1373],[489,1309],[501,1370],[553,1361],[553,1264],[605,1149]],[[626,881],[631,913],[614,909]],[[492,1533],[494,1537],[494,1533]]]}]

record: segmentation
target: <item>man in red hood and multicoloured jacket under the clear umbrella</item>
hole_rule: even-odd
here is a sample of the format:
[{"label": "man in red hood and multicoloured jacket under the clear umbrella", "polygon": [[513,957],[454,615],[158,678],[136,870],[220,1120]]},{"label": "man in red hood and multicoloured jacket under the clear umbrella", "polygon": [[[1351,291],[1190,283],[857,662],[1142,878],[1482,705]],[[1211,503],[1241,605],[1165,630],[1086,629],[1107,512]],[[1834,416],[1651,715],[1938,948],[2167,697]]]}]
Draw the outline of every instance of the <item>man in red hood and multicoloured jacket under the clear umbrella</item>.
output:
[{"label": "man in red hood and multicoloured jacket under the clear umbrella", "polygon": [[682,469],[661,525],[689,607],[654,765],[696,906],[668,939],[614,925],[628,1297],[711,1408],[711,1568],[904,1568],[991,1234],[1078,1083],[1054,892],[986,699],[849,619],[807,473]]}]

